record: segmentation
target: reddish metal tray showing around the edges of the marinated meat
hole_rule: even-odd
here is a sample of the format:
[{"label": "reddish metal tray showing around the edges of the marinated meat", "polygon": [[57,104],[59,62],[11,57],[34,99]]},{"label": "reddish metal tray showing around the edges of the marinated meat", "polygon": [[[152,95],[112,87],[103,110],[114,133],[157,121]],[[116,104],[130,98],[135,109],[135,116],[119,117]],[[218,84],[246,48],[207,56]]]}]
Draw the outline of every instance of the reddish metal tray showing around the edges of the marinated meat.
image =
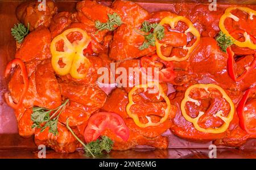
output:
[{"label": "reddish metal tray showing around the edges of the marinated meat", "polygon": [[[3,73],[7,62],[15,56],[15,41],[10,34],[10,29],[18,22],[15,16],[15,8],[22,1],[0,1],[0,158],[38,158],[38,148],[34,139],[23,138],[18,135],[15,114],[13,109],[7,106],[3,99],[3,93],[7,90],[7,80],[3,78]],[[58,11],[75,11],[77,1],[55,1]],[[106,6],[111,1],[98,1]],[[189,3],[195,5],[205,1],[135,1],[149,12],[168,10],[173,11],[175,3]],[[217,7],[222,8],[228,5],[246,5],[256,7],[256,1],[217,1]],[[217,11],[216,11],[217,12]],[[169,137],[169,148],[167,150],[154,149],[150,147],[139,146],[127,151],[112,151],[109,155],[98,158],[209,158],[209,146],[211,142],[198,143],[180,139],[171,134],[165,133]],[[82,151],[76,151],[72,154],[59,154],[51,149],[47,150],[46,158],[88,158]],[[256,158],[256,139],[248,140],[240,148],[230,148],[217,146],[217,158]]]}]

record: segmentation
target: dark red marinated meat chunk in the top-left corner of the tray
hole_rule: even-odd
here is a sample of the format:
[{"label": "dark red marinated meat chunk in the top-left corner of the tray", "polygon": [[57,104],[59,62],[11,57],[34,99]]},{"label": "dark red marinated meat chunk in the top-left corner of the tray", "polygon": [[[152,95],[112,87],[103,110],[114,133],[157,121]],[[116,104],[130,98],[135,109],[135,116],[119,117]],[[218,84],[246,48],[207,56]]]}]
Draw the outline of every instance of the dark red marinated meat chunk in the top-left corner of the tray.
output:
[{"label": "dark red marinated meat chunk in the top-left corner of the tray", "polygon": [[[46,2],[44,5],[43,2]],[[16,16],[24,25],[30,24],[30,31],[44,26],[49,27],[52,16],[56,14],[57,7],[51,0],[43,2],[28,1],[20,4],[16,8]]]}]

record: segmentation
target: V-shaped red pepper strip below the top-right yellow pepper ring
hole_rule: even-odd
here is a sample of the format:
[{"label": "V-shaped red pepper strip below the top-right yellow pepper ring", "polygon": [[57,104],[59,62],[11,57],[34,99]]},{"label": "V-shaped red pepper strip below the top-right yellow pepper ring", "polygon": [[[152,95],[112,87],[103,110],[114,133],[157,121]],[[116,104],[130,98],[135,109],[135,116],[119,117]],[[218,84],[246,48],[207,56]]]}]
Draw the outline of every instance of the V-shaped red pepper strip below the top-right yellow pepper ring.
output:
[{"label": "V-shaped red pepper strip below the top-right yellow pepper ring", "polygon": [[231,47],[229,47],[228,49],[226,49],[226,51],[228,52],[228,73],[230,78],[232,78],[234,81],[239,82],[243,79],[245,79],[245,77],[255,69],[256,67],[256,53],[254,54],[254,60],[253,62],[251,62],[250,66],[245,67],[245,71],[240,75],[240,76],[236,76],[236,71],[234,70],[234,53],[231,49]]}]

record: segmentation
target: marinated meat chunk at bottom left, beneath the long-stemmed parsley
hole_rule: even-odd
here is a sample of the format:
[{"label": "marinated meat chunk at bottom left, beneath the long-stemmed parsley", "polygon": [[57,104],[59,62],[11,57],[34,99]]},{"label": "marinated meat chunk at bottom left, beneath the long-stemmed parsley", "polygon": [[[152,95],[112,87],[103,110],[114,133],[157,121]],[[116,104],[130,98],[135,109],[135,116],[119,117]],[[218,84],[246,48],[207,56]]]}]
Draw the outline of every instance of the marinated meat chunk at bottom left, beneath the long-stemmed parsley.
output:
[{"label": "marinated meat chunk at bottom left, beneath the long-stemmed parsley", "polygon": [[[81,147],[81,144],[77,141],[71,132],[60,122],[57,124],[58,134],[55,136],[49,133],[49,128],[47,127],[43,132],[41,129],[35,130],[35,143],[36,145],[45,145],[51,147],[56,152],[75,152],[75,150]],[[76,135],[79,135],[77,129],[73,129]],[[79,135],[81,138],[81,136]]]}]

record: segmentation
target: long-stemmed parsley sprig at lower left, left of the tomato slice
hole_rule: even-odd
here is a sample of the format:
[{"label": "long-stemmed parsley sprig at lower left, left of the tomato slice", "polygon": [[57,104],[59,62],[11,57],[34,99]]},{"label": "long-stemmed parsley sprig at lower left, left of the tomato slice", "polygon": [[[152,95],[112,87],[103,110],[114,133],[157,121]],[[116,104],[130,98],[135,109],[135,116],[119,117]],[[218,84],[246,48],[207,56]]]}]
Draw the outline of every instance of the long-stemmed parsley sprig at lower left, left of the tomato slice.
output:
[{"label": "long-stemmed parsley sprig at lower left, left of the tomato slice", "polygon": [[[65,100],[63,104],[61,104],[59,107],[55,109],[34,107],[33,113],[31,114],[31,120],[33,122],[32,128],[40,128],[41,129],[40,131],[42,132],[47,127],[49,127],[49,133],[52,133],[53,135],[57,135],[58,134],[57,122],[58,122],[60,113],[63,112],[65,105],[67,105],[68,101],[69,101],[68,99]],[[56,116],[56,114],[58,115]]]}]

